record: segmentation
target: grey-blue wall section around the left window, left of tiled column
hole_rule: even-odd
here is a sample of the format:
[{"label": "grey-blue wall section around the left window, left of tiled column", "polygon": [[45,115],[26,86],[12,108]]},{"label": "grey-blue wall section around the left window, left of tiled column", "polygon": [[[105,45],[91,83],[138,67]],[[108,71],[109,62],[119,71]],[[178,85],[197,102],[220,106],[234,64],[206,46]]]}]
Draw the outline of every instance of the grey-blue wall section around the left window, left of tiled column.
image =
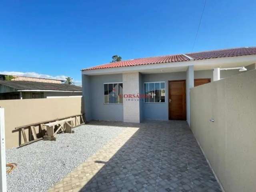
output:
[{"label": "grey-blue wall section around the left window, left of tiled column", "polygon": [[122,82],[122,74],[82,76],[86,120],[123,121],[122,104],[104,104],[103,86],[104,83]]}]

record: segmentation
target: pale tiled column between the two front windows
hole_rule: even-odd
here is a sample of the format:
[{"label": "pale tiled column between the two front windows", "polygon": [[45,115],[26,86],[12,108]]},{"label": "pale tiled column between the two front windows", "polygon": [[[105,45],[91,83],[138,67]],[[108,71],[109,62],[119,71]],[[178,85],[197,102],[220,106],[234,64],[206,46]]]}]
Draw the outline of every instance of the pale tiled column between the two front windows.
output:
[{"label": "pale tiled column between the two front windows", "polygon": [[123,110],[124,122],[140,122],[140,99],[133,94],[140,93],[139,72],[123,74]]}]

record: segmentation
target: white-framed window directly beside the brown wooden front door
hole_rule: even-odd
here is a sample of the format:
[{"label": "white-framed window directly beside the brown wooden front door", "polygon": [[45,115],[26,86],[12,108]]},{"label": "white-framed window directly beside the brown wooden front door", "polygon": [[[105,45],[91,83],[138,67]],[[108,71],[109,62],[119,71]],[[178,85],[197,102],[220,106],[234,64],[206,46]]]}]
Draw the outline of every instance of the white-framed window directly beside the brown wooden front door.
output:
[{"label": "white-framed window directly beside the brown wooden front door", "polygon": [[165,83],[144,83],[145,103],[165,102]]}]

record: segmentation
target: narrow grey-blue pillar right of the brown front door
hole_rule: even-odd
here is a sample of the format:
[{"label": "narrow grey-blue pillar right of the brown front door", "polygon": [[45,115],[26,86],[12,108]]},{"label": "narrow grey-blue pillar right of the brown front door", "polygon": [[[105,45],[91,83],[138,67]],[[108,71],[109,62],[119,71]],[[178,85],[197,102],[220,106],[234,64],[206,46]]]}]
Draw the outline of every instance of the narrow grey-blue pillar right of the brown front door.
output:
[{"label": "narrow grey-blue pillar right of the brown front door", "polygon": [[186,111],[187,122],[190,126],[190,88],[194,87],[194,66],[188,66],[186,72]]}]

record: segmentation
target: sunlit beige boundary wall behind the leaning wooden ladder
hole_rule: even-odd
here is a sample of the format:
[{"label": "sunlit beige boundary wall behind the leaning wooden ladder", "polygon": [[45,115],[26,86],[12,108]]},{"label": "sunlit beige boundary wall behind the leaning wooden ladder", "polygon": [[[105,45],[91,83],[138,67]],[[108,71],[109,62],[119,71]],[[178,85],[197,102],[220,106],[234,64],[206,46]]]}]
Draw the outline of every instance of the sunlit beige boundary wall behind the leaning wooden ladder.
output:
[{"label": "sunlit beige boundary wall behind the leaning wooden ladder", "polygon": [[[21,132],[16,131],[15,127],[81,114],[81,102],[81,97],[0,100],[0,106],[5,111],[6,148],[24,143]],[[28,137],[28,129],[26,134]]]}]

